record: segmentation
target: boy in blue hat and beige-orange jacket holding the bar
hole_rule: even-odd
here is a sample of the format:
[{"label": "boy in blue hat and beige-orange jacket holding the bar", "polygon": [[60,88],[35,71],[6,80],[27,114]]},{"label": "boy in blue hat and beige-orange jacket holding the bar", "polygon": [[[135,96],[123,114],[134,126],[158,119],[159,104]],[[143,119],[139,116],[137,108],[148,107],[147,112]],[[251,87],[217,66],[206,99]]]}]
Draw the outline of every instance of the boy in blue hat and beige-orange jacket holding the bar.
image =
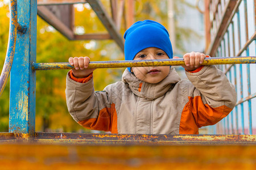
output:
[{"label": "boy in blue hat and beige-orange jacket holding the bar", "polygon": [[[144,20],[124,35],[125,59],[172,58],[169,34],[162,24]],[[178,58],[178,57],[174,57]],[[188,80],[170,66],[127,68],[122,82],[94,92],[88,57],[69,58],[67,105],[80,125],[122,134],[199,134],[236,104],[234,86],[215,66],[200,66],[205,55],[184,55]]]}]

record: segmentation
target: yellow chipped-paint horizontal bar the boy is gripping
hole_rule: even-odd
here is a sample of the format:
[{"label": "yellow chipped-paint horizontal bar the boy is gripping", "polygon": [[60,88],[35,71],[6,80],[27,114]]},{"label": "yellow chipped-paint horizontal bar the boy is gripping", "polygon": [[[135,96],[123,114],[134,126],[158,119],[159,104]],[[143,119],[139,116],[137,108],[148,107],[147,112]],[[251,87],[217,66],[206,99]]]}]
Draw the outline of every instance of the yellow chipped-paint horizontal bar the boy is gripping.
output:
[{"label": "yellow chipped-paint horizontal bar the boy is gripping", "polygon": [[[222,65],[222,64],[241,64],[256,63],[256,57],[214,57],[205,58],[202,65]],[[182,66],[185,65],[183,58],[179,59],[148,59],[130,61],[92,61],[88,69],[117,68],[117,67],[152,67],[152,66]],[[33,70],[60,70],[73,69],[68,62],[59,63],[33,63]]]}]

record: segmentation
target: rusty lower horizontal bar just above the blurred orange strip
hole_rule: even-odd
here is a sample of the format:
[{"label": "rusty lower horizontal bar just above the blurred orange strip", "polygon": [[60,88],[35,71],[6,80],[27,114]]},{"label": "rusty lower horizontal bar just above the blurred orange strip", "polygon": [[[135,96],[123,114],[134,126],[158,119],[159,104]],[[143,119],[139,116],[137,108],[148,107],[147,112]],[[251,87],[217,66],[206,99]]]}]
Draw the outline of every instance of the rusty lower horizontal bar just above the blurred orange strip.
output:
[{"label": "rusty lower horizontal bar just above the blurred orange strip", "polygon": [[[10,139],[27,139],[24,133],[0,133],[0,142]],[[170,134],[88,134],[88,133],[47,133],[36,132],[30,141],[47,143],[87,144],[87,145],[223,145],[256,144],[256,135],[170,135]]]}]

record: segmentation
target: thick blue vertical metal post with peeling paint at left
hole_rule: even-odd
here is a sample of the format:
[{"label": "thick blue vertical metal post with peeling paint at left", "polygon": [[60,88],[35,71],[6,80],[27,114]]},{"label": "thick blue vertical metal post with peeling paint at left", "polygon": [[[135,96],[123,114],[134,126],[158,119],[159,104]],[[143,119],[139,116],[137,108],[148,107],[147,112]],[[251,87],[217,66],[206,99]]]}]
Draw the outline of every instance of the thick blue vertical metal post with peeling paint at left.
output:
[{"label": "thick blue vertical metal post with peeling paint at left", "polygon": [[9,132],[35,132],[35,72],[31,64],[36,61],[36,0],[18,1],[18,23],[27,31],[17,34],[15,56],[10,77]]}]

